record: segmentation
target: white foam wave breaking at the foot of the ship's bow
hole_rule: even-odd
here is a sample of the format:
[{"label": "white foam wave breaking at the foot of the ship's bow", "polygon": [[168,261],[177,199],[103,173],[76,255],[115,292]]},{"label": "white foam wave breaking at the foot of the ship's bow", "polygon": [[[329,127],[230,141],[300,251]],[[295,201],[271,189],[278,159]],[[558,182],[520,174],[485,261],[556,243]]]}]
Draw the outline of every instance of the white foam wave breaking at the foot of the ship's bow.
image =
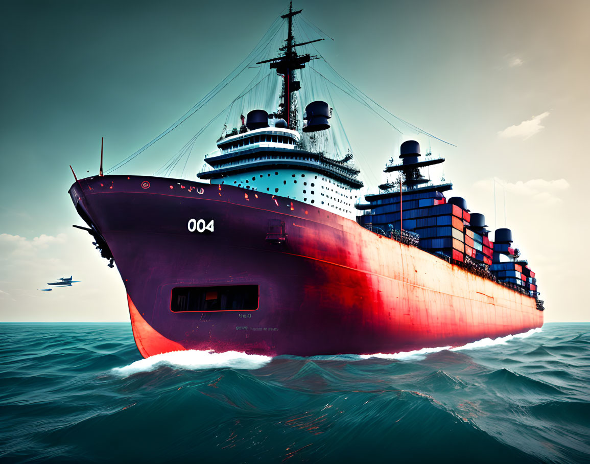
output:
[{"label": "white foam wave breaking at the foot of the ship's bow", "polygon": [[223,367],[234,369],[258,369],[270,362],[270,356],[245,354],[239,351],[217,353],[213,350],[188,349],[157,354],[143,360],[132,362],[125,367],[116,367],[113,374],[127,377],[137,372],[155,371],[159,367],[168,366],[181,369],[205,370]]}]

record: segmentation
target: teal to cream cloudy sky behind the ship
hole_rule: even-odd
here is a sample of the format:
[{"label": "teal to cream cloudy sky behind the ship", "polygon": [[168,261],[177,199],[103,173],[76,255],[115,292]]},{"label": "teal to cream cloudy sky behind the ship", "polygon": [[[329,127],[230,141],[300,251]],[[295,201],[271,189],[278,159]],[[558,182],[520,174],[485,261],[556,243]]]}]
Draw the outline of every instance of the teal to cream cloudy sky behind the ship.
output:
[{"label": "teal to cream cloudy sky behind the ship", "polygon": [[[82,221],[68,166],[96,174],[101,137],[107,167],[162,133],[250,53],[283,3],[0,1],[0,321],[129,321],[117,270],[71,227]],[[317,51],[350,83],[455,145],[400,135],[335,95],[365,184],[381,183],[399,143],[417,138],[447,159],[444,177],[472,212],[512,229],[537,273],[545,321],[590,321],[590,2],[294,8],[333,38]],[[228,86],[117,174],[152,175],[240,90]],[[199,138],[185,178],[195,179],[222,125]],[[81,282],[38,291],[70,275]]]}]

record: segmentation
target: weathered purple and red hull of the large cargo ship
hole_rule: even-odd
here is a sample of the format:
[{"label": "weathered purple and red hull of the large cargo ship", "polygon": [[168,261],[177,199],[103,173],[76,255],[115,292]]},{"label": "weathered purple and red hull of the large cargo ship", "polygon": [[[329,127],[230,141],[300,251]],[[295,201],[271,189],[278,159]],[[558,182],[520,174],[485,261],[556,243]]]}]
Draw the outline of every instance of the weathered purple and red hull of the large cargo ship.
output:
[{"label": "weathered purple and red hull of the large cargo ship", "polygon": [[[112,251],[144,357],[399,352],[543,325],[529,296],[288,198],[136,176],[81,179],[70,195]],[[214,231],[191,233],[192,218]],[[267,240],[272,221],[286,240]],[[258,308],[171,311],[175,288],[232,285],[257,285]]]}]

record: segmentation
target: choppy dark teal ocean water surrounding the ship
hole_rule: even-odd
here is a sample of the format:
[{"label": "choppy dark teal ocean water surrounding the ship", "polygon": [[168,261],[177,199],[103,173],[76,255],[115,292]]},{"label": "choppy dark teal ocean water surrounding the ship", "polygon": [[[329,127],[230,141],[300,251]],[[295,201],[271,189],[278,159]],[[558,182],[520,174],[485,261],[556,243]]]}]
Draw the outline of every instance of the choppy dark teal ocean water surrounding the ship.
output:
[{"label": "choppy dark teal ocean water surrounding the ship", "polygon": [[590,462],[590,324],[460,349],[143,360],[127,324],[0,324],[3,462]]}]

